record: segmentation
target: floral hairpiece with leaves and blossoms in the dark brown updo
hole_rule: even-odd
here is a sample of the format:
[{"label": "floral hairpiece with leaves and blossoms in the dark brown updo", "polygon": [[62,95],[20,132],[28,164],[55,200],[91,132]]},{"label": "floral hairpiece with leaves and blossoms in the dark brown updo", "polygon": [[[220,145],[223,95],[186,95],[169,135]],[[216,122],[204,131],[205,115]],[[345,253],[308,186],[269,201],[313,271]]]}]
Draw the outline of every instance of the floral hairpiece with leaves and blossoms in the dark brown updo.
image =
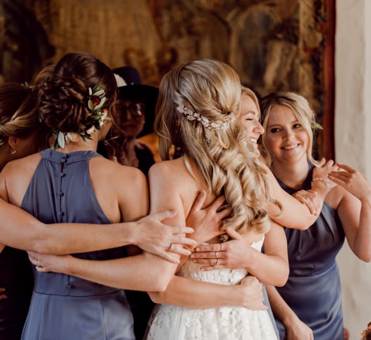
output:
[{"label": "floral hairpiece with leaves and blossoms in the dark brown updo", "polygon": [[86,142],[87,139],[92,139],[92,134],[94,134],[96,130],[100,130],[104,121],[111,119],[107,117],[106,112],[102,111],[102,107],[106,100],[107,98],[100,84],[95,85],[93,89],[89,88],[88,109],[92,112],[92,115],[88,117],[88,121],[85,123],[85,129],[68,133],[55,129],[54,150],[58,150],[59,148],[63,149],[66,143],[76,142],[78,136],[80,136],[84,142]]}]

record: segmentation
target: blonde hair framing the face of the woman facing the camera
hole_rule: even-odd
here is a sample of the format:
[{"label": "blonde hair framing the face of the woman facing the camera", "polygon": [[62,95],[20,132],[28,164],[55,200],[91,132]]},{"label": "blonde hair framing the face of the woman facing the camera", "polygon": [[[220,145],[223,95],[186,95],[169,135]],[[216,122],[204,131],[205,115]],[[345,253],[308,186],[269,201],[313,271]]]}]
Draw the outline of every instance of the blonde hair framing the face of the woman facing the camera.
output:
[{"label": "blonde hair framing the face of the woman facing the camera", "polygon": [[275,105],[284,105],[290,108],[299,123],[305,128],[309,135],[308,149],[306,150],[307,158],[311,164],[318,167],[319,163],[313,159],[312,147],[313,147],[313,132],[316,130],[318,124],[316,123],[316,115],[310,108],[309,102],[306,98],[295,92],[276,92],[265,96],[261,101],[262,110],[262,125],[265,134],[262,136],[262,142],[264,147],[264,158],[267,165],[272,165],[272,155],[268,152],[267,148],[267,126],[269,121],[269,115],[272,108]]}]

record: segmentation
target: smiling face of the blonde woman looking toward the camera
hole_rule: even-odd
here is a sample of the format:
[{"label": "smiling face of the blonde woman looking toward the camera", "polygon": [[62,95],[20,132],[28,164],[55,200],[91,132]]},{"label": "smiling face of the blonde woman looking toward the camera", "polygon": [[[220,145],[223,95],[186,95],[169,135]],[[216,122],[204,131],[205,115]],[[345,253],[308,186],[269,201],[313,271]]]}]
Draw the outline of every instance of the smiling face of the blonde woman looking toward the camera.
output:
[{"label": "smiling face of the blonde woman looking toward the camera", "polygon": [[266,147],[273,164],[306,162],[308,146],[309,134],[293,110],[286,105],[274,105],[269,113],[266,132]]}]

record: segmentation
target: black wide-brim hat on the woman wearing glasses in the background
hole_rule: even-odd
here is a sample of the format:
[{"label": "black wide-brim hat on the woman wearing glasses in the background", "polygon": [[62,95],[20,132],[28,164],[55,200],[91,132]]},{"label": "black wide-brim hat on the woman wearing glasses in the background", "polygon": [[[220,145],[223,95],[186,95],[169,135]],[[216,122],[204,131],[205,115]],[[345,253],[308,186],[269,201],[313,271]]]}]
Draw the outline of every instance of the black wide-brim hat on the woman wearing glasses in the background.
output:
[{"label": "black wide-brim hat on the woman wearing glasses in the background", "polygon": [[153,123],[155,122],[158,88],[141,84],[139,72],[134,67],[124,66],[115,68],[113,69],[113,73],[115,73],[119,92],[123,99],[138,100],[146,104],[146,122],[137,137],[152,133]]}]

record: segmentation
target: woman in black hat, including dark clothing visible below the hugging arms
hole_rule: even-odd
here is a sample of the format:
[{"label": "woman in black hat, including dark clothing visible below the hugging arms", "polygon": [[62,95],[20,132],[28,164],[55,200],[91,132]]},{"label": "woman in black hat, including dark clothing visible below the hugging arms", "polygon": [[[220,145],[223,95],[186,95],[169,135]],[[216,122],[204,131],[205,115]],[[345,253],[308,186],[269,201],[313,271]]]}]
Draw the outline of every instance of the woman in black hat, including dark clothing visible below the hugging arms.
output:
[{"label": "woman in black hat, including dark clothing visible below the hugging arms", "polygon": [[[113,70],[120,92],[118,127],[112,127],[105,146],[98,147],[98,152],[112,161],[132,166],[146,176],[155,164],[150,148],[137,140],[153,132],[155,106],[158,89],[143,85],[138,71],[131,66]],[[144,336],[147,322],[154,303],[145,292],[125,291],[134,318],[134,333],[137,339]]]}]

